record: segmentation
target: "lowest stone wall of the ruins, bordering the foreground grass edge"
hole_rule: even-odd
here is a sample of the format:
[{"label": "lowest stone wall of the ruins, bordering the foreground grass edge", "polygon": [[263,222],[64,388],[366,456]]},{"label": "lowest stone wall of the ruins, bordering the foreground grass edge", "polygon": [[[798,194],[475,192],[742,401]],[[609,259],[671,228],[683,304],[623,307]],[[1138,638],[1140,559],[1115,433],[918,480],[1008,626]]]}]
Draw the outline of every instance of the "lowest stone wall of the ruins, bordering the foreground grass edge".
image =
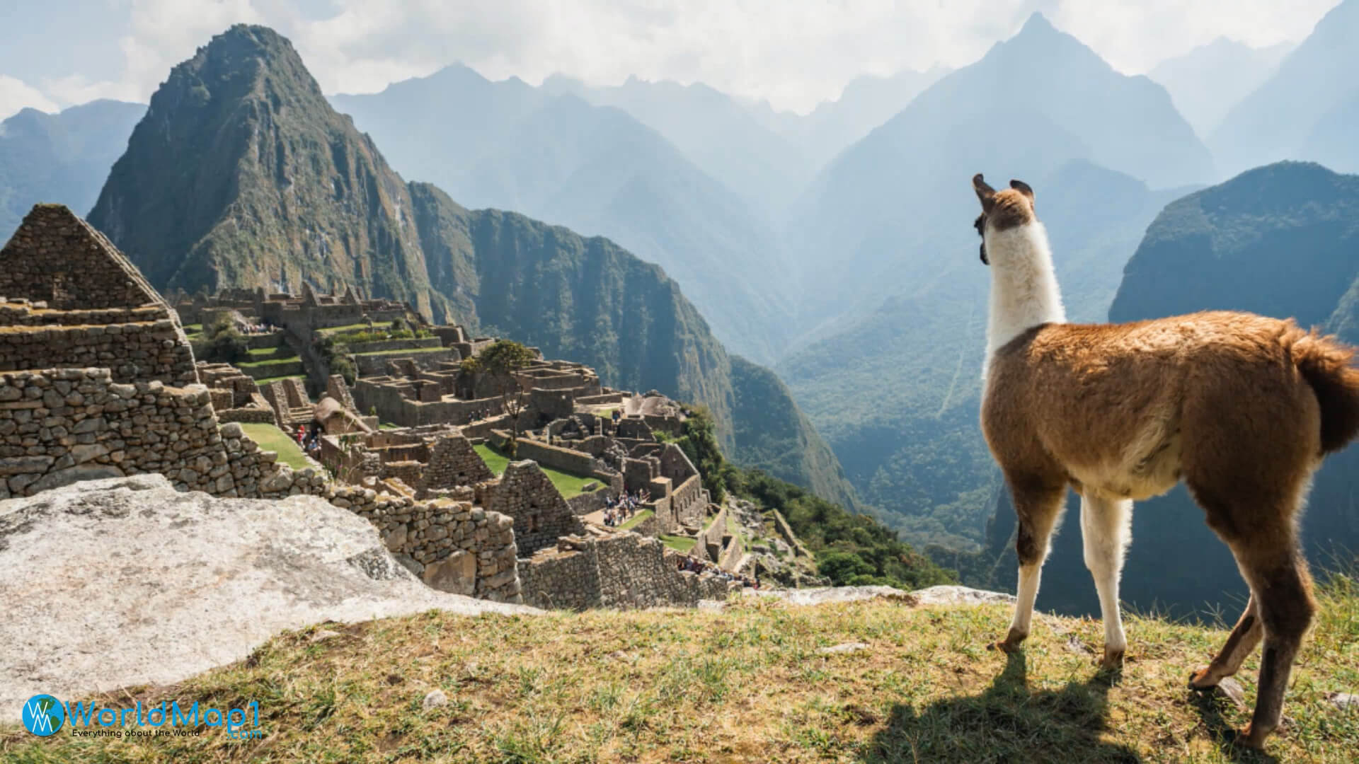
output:
[{"label": "lowest stone wall of the ruins, bordering the foreground grass edge", "polygon": [[519,560],[519,578],[523,601],[538,608],[694,608],[731,589],[712,574],[681,572],[674,552],[636,533],[561,538]]}]

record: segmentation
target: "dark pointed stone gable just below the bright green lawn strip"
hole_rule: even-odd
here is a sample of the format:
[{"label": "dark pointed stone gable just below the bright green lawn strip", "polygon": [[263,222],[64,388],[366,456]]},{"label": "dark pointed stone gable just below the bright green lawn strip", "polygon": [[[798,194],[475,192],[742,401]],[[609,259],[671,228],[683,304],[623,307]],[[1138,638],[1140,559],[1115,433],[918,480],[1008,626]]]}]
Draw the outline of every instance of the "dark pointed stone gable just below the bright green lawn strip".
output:
[{"label": "dark pointed stone gable just below the bright green lawn strip", "polygon": [[519,552],[531,555],[557,542],[561,536],[584,533],[580,519],[531,461],[510,462],[499,481],[477,485],[478,503],[514,518]]}]

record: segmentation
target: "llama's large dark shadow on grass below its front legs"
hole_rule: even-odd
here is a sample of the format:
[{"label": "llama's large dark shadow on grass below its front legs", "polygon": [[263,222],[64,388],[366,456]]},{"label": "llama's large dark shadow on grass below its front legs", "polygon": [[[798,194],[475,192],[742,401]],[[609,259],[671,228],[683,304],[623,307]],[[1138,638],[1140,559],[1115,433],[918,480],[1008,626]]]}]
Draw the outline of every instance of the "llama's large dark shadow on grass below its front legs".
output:
[{"label": "llama's large dark shadow on grass below its front legs", "polygon": [[1059,691],[1030,692],[1023,653],[1011,654],[981,695],[946,697],[919,712],[896,706],[863,760],[1142,761],[1136,750],[1099,740],[1116,681],[1098,674]]}]

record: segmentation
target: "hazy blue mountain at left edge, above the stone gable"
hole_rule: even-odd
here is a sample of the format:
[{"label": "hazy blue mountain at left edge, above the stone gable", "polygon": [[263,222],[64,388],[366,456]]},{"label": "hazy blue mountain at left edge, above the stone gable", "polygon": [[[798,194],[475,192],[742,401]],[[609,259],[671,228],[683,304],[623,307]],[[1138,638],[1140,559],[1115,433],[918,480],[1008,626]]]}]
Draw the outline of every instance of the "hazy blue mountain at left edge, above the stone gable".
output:
[{"label": "hazy blue mountain at left edge, above the stone gable", "polygon": [[0,241],[39,201],[84,215],[145,110],[92,101],[58,114],[24,109],[0,122]]}]

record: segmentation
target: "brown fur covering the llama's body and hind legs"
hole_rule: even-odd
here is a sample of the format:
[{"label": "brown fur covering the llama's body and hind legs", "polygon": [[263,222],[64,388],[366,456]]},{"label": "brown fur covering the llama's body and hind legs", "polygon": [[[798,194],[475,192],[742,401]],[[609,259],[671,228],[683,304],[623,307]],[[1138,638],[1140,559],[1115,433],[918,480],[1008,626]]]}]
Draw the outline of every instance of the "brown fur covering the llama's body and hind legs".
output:
[{"label": "brown fur covering the llama's body and hind legs", "polygon": [[1014,493],[1022,564],[1046,555],[1067,484],[1118,499],[1188,484],[1258,598],[1195,684],[1230,676],[1267,636],[1261,700],[1246,731],[1257,745],[1277,725],[1316,610],[1296,515],[1321,455],[1359,430],[1351,358],[1292,321],[1216,311],[1036,326],[1004,345],[988,372],[983,430]]}]

